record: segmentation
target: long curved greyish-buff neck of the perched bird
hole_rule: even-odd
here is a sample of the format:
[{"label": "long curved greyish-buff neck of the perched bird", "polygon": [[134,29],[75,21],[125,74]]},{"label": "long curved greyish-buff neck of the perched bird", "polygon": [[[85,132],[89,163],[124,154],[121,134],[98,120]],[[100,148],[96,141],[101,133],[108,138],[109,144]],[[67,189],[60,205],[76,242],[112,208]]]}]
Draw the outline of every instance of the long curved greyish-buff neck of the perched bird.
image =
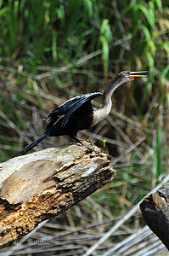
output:
[{"label": "long curved greyish-buff neck of the perched bird", "polygon": [[107,86],[107,88],[104,90],[103,95],[103,105],[102,108],[110,108],[111,109],[111,96],[113,95],[114,91],[124,83],[123,79],[120,79],[119,75],[115,76],[115,79],[113,79],[110,84]]}]

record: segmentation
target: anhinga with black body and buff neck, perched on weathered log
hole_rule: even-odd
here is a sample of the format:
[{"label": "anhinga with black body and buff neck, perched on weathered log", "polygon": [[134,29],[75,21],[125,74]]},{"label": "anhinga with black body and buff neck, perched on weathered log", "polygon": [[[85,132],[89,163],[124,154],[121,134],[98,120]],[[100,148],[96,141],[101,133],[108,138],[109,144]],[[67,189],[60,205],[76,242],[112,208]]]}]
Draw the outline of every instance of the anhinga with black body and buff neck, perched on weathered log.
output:
[{"label": "anhinga with black body and buff neck, perched on weathered log", "polygon": [[[49,113],[46,121],[49,122],[46,131],[41,137],[38,137],[34,142],[22,148],[17,154],[25,154],[31,148],[41,143],[45,137],[59,137],[69,135],[76,138],[78,131],[86,130],[93,125],[98,124],[105,119],[111,110],[111,96],[114,91],[127,81],[134,80],[135,77],[147,77],[147,71],[122,71],[115,76],[103,94],[103,104],[101,108],[93,108],[91,101],[96,96],[102,95],[101,92],[87,93],[82,96],[76,96],[57,108],[54,108]],[[78,138],[76,138],[78,141]]]}]

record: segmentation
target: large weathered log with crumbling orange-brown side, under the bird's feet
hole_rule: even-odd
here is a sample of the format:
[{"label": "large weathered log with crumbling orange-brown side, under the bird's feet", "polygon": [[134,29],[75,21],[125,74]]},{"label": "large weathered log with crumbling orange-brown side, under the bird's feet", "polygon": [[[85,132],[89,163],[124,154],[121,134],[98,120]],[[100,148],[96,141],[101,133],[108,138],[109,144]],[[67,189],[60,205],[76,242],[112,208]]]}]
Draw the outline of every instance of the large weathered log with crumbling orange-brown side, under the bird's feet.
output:
[{"label": "large weathered log with crumbling orange-brown side, under the bird's feet", "polygon": [[0,247],[82,201],[115,177],[110,156],[71,143],[0,164]]}]

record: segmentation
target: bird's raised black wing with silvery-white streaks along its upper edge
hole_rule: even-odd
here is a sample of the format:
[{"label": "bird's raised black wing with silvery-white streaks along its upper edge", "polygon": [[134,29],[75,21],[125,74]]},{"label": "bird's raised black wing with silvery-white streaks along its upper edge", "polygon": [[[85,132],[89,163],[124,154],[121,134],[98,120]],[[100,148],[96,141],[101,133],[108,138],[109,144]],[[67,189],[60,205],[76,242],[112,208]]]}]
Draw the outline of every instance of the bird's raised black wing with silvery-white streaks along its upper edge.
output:
[{"label": "bird's raised black wing with silvery-white streaks along its upper edge", "polygon": [[78,108],[80,108],[85,102],[93,100],[96,96],[102,95],[101,92],[93,92],[84,94],[82,96],[76,96],[71,98],[67,102],[59,105],[59,107],[54,108],[48,117],[45,119],[50,123],[47,126],[47,130],[54,125],[59,119],[60,116],[65,115],[62,121],[62,127],[64,127],[70,119],[72,113],[74,113]]}]

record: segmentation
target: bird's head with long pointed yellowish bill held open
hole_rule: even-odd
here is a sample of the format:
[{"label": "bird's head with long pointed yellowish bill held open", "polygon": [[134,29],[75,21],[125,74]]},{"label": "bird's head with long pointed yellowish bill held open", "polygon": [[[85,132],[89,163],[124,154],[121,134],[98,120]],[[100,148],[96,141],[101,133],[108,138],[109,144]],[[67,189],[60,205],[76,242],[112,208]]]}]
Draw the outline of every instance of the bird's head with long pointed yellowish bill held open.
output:
[{"label": "bird's head with long pointed yellowish bill held open", "polygon": [[119,76],[121,79],[127,81],[133,81],[134,78],[146,78],[148,71],[121,71]]}]

